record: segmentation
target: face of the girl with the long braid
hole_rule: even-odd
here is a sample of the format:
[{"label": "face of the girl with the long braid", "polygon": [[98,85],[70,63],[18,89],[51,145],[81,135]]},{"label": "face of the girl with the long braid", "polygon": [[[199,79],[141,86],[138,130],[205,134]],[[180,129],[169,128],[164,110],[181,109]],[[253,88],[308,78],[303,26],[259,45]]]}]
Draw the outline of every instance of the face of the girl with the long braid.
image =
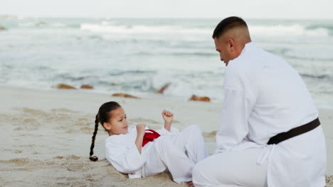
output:
[{"label": "face of the girl with the long braid", "polygon": [[117,108],[111,111],[110,115],[109,122],[103,124],[105,129],[109,131],[109,135],[126,134],[128,125],[124,109],[122,107]]}]

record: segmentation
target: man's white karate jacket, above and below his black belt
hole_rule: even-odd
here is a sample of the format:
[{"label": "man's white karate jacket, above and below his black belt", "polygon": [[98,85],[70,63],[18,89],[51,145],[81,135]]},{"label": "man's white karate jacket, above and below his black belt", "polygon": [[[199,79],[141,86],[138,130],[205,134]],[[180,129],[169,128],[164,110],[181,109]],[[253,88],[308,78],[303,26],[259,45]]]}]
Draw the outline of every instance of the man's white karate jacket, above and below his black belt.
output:
[{"label": "man's white karate jacket, above and below his black belt", "polygon": [[[318,111],[300,75],[280,57],[245,45],[226,67],[218,152],[263,147],[268,186],[324,186],[326,148],[322,127],[277,145],[270,137],[309,123]],[[244,155],[246,157],[246,155]]]}]

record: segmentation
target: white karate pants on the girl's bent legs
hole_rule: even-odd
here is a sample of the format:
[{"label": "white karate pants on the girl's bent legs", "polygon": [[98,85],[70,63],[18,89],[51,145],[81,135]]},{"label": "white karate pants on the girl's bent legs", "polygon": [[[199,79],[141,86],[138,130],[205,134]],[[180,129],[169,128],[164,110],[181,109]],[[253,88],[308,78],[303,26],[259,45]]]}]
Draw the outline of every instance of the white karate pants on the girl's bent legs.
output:
[{"label": "white karate pants on the girl's bent legs", "polygon": [[154,176],[168,169],[176,183],[192,181],[194,164],[208,157],[198,125],[191,125],[179,135],[161,136],[147,150],[142,177]]}]

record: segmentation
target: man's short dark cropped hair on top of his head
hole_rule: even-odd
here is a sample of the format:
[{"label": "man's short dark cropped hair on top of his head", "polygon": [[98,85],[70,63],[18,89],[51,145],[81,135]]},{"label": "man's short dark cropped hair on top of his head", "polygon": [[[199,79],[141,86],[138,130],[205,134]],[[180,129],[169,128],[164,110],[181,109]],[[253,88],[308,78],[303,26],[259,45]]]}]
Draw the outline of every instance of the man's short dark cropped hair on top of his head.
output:
[{"label": "man's short dark cropped hair on top of his head", "polygon": [[223,19],[218,25],[216,26],[214,33],[213,33],[213,38],[218,38],[220,37],[223,33],[225,33],[227,30],[231,28],[237,28],[237,27],[248,27],[246,25],[245,21],[242,18],[236,17],[236,16],[231,16],[228,18]]}]

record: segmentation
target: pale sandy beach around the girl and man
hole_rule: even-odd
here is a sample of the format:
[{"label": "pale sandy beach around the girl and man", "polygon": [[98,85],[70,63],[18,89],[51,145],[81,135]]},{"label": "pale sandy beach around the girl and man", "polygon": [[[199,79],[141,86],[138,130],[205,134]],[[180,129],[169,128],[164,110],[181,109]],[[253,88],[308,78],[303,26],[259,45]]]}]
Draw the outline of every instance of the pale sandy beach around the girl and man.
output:
[{"label": "pale sandy beach around the girl and man", "polygon": [[[181,98],[119,98],[81,90],[36,90],[0,86],[0,186],[186,186],[169,174],[128,179],[105,159],[107,133],[99,127],[98,162],[88,159],[97,109],[119,102],[129,125],[162,126],[161,111],[174,113],[174,127],[200,125],[212,154],[222,103]],[[319,108],[327,141],[327,186],[333,186],[333,111]]]}]

